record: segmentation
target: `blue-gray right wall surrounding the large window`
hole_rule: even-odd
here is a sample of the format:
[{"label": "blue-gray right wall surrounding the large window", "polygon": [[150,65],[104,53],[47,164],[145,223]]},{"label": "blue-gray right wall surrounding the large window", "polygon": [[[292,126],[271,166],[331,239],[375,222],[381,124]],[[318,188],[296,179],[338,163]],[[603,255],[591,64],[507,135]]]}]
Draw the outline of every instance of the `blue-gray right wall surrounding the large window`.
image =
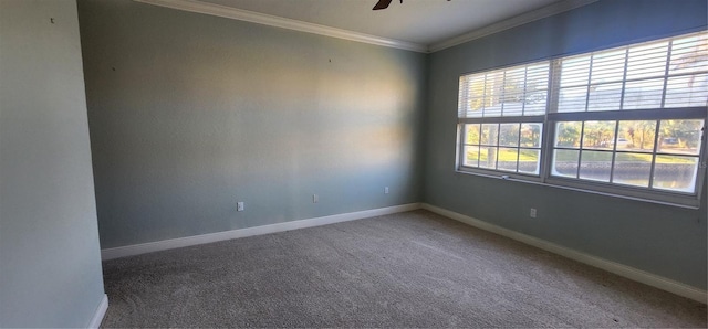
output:
[{"label": "blue-gray right wall surrounding the large window", "polygon": [[708,193],[699,210],[686,210],[455,171],[461,74],[705,29],[706,7],[601,0],[434,53],[425,202],[706,289]]}]

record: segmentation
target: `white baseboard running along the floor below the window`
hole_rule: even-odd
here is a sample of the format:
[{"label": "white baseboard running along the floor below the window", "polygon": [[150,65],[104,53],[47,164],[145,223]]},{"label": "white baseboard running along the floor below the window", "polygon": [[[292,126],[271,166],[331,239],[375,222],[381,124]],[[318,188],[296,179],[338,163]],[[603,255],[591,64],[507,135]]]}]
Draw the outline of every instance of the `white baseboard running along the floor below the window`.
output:
[{"label": "white baseboard running along the floor below the window", "polygon": [[683,296],[696,301],[700,301],[702,304],[706,304],[706,299],[708,298],[708,294],[706,290],[702,290],[686,284],[681,284],[679,282],[675,282],[663,276],[658,276],[658,275],[655,275],[642,269],[637,269],[627,265],[623,265],[623,264],[600,258],[590,254],[585,254],[569,247],[564,247],[564,246],[548,242],[545,240],[541,240],[541,238],[533,237],[523,233],[519,233],[509,229],[497,226],[494,224],[490,224],[485,221],[480,221],[475,217],[464,215],[454,211],[449,211],[447,209],[442,209],[439,206],[435,206],[431,204],[423,203],[421,208],[425,210],[431,211],[434,213],[444,215],[446,217],[456,220],[458,222],[462,222],[465,224],[475,226],[477,229],[496,233],[496,234],[525,243],[528,245],[542,248],[544,251],[554,253],[556,255],[571,258],[573,261],[577,261],[580,263],[587,264],[590,266],[597,267],[597,268],[607,270],[610,273],[614,273],[616,275],[628,278],[631,280],[643,283],[645,285],[649,285],[652,287],[659,288],[662,290],[666,290],[671,294],[676,294],[678,296]]}]

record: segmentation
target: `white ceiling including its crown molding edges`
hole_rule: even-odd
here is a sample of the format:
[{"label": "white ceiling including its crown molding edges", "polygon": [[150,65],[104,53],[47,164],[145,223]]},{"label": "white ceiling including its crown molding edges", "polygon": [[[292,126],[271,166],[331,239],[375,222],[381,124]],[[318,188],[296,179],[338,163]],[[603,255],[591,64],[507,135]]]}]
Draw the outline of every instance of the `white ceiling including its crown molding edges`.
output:
[{"label": "white ceiling including its crown molding edges", "polygon": [[376,11],[377,0],[135,1],[427,52],[596,0],[393,0]]}]

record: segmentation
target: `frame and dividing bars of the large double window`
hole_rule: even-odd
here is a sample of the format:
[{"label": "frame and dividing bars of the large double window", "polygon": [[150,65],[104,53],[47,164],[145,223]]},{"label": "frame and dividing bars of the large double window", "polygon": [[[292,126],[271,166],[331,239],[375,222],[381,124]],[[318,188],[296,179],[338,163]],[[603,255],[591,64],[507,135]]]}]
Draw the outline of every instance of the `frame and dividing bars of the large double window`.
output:
[{"label": "frame and dividing bars of the large double window", "polygon": [[[462,74],[459,76],[460,78],[460,85],[458,85],[458,88],[461,88],[461,82],[462,78],[470,78],[470,76],[476,75],[476,74],[488,74],[491,72],[497,72],[497,71],[501,71],[501,70],[513,70],[514,67],[520,67],[520,66],[531,66],[531,65],[538,65],[544,62],[549,63],[549,76],[548,76],[548,87],[546,87],[546,102],[545,102],[545,113],[543,115],[535,115],[535,116],[498,116],[498,117],[462,117],[461,116],[461,92],[458,89],[458,123],[457,123],[457,147],[456,147],[456,160],[455,160],[455,169],[456,172],[460,172],[460,173],[469,173],[469,174],[476,174],[476,176],[483,176],[483,177],[492,177],[492,178],[501,178],[501,179],[510,179],[510,180],[514,180],[514,181],[520,181],[520,182],[528,182],[528,183],[537,183],[537,184],[542,184],[542,185],[548,185],[548,187],[554,187],[554,188],[561,188],[561,189],[569,189],[569,190],[576,190],[576,191],[582,191],[582,192],[589,192],[589,193],[596,193],[596,194],[604,194],[604,195],[611,195],[611,197],[617,197],[617,198],[623,198],[623,199],[632,199],[632,200],[639,200],[639,201],[645,201],[645,202],[653,202],[653,203],[660,203],[660,204],[668,204],[668,205],[675,205],[675,206],[680,206],[680,208],[689,208],[689,209],[697,209],[698,206],[700,206],[700,202],[701,202],[701,195],[704,193],[704,189],[706,188],[704,185],[704,181],[706,178],[706,167],[707,166],[707,158],[708,158],[708,140],[707,140],[707,136],[708,131],[706,131],[708,129],[708,104],[707,106],[691,106],[691,107],[664,107],[664,95],[666,95],[666,88],[667,88],[667,82],[669,79],[669,74],[668,74],[668,68],[666,70],[666,73],[662,76],[664,78],[664,87],[663,87],[663,95],[662,95],[662,105],[657,108],[652,108],[652,109],[617,109],[617,110],[590,110],[589,109],[589,103],[586,100],[585,106],[586,108],[583,112],[559,112],[559,97],[560,97],[560,93],[561,93],[561,87],[560,87],[560,74],[559,74],[559,70],[560,70],[560,63],[564,60],[564,59],[572,59],[574,56],[582,56],[582,55],[593,55],[595,53],[600,53],[600,52],[605,52],[605,51],[614,51],[614,50],[621,50],[621,49],[625,49],[628,50],[629,47],[633,46],[637,46],[637,45],[642,45],[642,44],[648,44],[648,43],[653,43],[653,42],[660,42],[664,39],[666,40],[671,40],[670,42],[673,42],[673,40],[677,40],[677,39],[681,39],[681,38],[687,38],[691,34],[706,34],[708,33],[708,31],[699,31],[699,32],[694,32],[694,33],[685,33],[685,34],[679,34],[679,35],[675,35],[671,38],[659,38],[659,39],[655,39],[655,40],[649,40],[646,42],[639,42],[639,43],[628,43],[626,45],[623,46],[618,46],[618,47],[610,47],[610,49],[605,49],[605,50],[596,50],[596,51],[592,51],[592,52],[585,52],[585,53],[580,53],[580,54],[574,54],[574,55],[563,55],[563,56],[556,56],[556,57],[551,57],[551,59],[545,59],[545,60],[540,60],[540,61],[530,61],[530,62],[525,62],[525,63],[518,63],[518,64],[513,64],[513,65],[506,65],[506,66],[499,66],[499,67],[493,67],[493,68],[489,68],[489,70],[481,70],[481,71],[477,71],[477,72],[472,72],[472,73],[467,73],[467,74]],[[670,43],[669,43],[669,49],[670,49]],[[626,61],[626,59],[625,59]],[[668,62],[671,61],[670,59],[670,52],[669,55],[666,59],[667,62],[667,67]],[[624,84],[626,82],[628,82],[629,79],[626,78],[626,67],[627,67],[627,63],[625,62],[624,64],[624,76],[622,78],[622,84],[623,84],[623,88],[622,88],[622,95],[624,97]],[[702,74],[702,73],[691,73],[691,74]],[[684,73],[683,75],[689,75]],[[678,76],[683,76],[681,74],[678,74]],[[670,76],[677,76],[677,75],[670,75]],[[525,84],[525,82],[524,82]],[[590,84],[590,83],[589,83]],[[590,99],[590,94],[585,94],[585,98]],[[707,102],[708,103],[708,102]],[[624,104],[621,103],[621,108],[622,106],[624,106]],[[657,126],[656,126],[656,132],[654,136],[654,149],[650,152],[646,152],[647,155],[650,155],[653,160],[650,162],[652,164],[652,173],[654,172],[654,168],[656,164],[656,160],[655,158],[657,156],[662,156],[663,153],[660,151],[657,151],[657,147],[656,144],[659,142],[659,127],[658,124],[660,123],[660,120],[669,120],[669,119],[700,119],[704,120],[704,127],[702,130],[700,131],[700,148],[698,149],[698,155],[697,155],[697,159],[698,159],[698,163],[697,163],[697,168],[696,168],[696,172],[695,172],[695,191],[693,193],[689,192],[680,192],[680,191],[670,191],[670,190],[660,190],[660,189],[656,189],[653,188],[652,185],[649,187],[635,187],[635,185],[629,185],[629,184],[622,184],[622,183],[616,183],[616,182],[612,182],[612,181],[607,181],[607,182],[602,182],[602,181],[593,181],[593,180],[587,180],[587,179],[581,179],[581,178],[565,178],[565,177],[560,177],[560,176],[553,176],[552,174],[552,166],[553,166],[553,153],[554,150],[556,149],[556,147],[554,146],[555,144],[555,130],[556,130],[556,125],[558,123],[561,121],[592,121],[592,120],[612,120],[615,121],[617,125],[618,121],[626,121],[626,120],[656,120],[657,121]],[[499,169],[489,169],[489,168],[479,168],[479,167],[469,167],[469,166],[465,166],[465,157],[466,157],[466,152],[465,152],[465,146],[466,146],[466,136],[465,136],[465,126],[467,124],[504,124],[504,123],[516,123],[516,124],[524,124],[524,123],[540,123],[542,125],[542,132],[541,132],[541,145],[540,145],[540,159],[539,159],[539,174],[532,174],[532,173],[524,173],[524,172],[513,172],[513,171],[506,171],[506,170],[499,170]],[[615,126],[615,128],[617,129],[617,126]],[[615,135],[617,134],[617,131],[615,131]],[[615,140],[618,138],[618,136],[614,137]],[[481,145],[481,141],[479,142],[479,145]],[[497,147],[499,148],[499,141],[497,141]],[[521,146],[518,145],[516,147],[518,150],[521,149]],[[583,149],[583,146],[579,147],[579,150]],[[606,150],[605,150],[606,151]],[[615,157],[618,153],[624,153],[624,152],[628,152],[628,151],[618,151],[618,149],[616,147],[613,147],[610,151],[610,153],[612,155],[612,159],[613,159],[613,163],[615,160]],[[481,152],[480,152],[481,153]],[[691,156],[691,157],[696,157],[696,156]],[[518,163],[519,163],[519,158],[517,160],[517,171],[518,171]],[[614,168],[611,167],[611,172],[614,172]],[[650,174],[652,174],[650,173]],[[649,176],[650,176],[649,174]]]}]

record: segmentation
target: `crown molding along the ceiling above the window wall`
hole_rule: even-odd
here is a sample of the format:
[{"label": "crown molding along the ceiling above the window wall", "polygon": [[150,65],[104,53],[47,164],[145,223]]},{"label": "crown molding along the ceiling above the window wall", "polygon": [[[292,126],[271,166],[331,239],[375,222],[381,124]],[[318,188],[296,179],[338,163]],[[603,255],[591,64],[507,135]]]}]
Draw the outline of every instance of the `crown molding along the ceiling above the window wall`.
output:
[{"label": "crown molding along the ceiling above the window wall", "polygon": [[565,1],[556,2],[550,6],[543,7],[541,9],[537,9],[533,11],[522,13],[520,15],[516,15],[508,20],[493,23],[491,25],[477,29],[475,31],[465,33],[462,35],[458,35],[442,42],[434,43],[429,46],[428,52],[433,53],[433,52],[441,51],[444,49],[448,49],[451,46],[456,46],[458,44],[470,42],[472,40],[480,39],[490,34],[494,34],[504,30],[513,29],[516,26],[523,25],[525,23],[530,23],[533,21],[538,21],[540,19],[554,15],[554,14],[570,11],[575,8],[587,6],[596,1],[597,0],[565,0]]}]

